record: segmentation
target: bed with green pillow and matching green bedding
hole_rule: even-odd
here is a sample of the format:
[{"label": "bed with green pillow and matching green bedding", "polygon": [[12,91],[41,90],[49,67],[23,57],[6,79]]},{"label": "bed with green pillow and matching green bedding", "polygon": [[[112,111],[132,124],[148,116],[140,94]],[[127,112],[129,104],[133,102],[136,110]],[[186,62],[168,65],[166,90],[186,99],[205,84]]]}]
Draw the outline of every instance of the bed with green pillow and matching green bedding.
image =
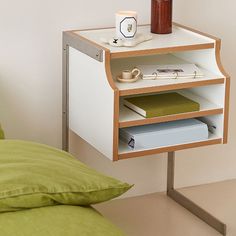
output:
[{"label": "bed with green pillow and matching green bedding", "polygon": [[91,205],[120,196],[131,187],[64,151],[0,140],[1,235],[125,235]]}]

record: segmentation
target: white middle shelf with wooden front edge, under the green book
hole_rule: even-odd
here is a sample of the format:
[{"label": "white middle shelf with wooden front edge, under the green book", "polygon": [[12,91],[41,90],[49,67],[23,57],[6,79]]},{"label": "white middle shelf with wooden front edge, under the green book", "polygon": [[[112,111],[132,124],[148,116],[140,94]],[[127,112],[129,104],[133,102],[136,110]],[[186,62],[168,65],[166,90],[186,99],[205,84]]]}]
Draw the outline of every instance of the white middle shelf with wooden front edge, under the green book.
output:
[{"label": "white middle shelf with wooden front edge, under the green book", "polygon": [[123,99],[121,99],[120,113],[119,113],[120,115],[119,128],[223,114],[223,108],[217,106],[214,103],[209,102],[203,97],[200,97],[186,90],[180,90],[178,91],[178,93],[198,102],[200,104],[200,111],[153,117],[153,118],[145,118],[139,115],[138,113],[132,111],[131,109],[127,108],[126,106],[124,106]]}]

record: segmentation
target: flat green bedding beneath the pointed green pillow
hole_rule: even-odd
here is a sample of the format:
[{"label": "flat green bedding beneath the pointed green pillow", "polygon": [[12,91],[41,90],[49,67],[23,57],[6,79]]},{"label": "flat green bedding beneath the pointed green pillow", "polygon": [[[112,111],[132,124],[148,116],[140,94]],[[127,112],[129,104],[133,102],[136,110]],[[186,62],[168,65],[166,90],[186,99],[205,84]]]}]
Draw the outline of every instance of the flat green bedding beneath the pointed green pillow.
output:
[{"label": "flat green bedding beneath the pointed green pillow", "polygon": [[2,236],[124,236],[90,207],[48,206],[0,214]]}]

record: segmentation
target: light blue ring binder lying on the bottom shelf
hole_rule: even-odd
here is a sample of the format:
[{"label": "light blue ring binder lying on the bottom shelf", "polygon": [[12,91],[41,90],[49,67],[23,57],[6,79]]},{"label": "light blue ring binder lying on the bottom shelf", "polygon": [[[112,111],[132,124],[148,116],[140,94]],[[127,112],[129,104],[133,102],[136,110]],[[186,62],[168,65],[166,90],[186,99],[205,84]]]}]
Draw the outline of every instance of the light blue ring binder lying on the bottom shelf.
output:
[{"label": "light blue ring binder lying on the bottom shelf", "polygon": [[134,150],[154,149],[208,139],[207,124],[197,119],[120,129],[120,138]]}]

